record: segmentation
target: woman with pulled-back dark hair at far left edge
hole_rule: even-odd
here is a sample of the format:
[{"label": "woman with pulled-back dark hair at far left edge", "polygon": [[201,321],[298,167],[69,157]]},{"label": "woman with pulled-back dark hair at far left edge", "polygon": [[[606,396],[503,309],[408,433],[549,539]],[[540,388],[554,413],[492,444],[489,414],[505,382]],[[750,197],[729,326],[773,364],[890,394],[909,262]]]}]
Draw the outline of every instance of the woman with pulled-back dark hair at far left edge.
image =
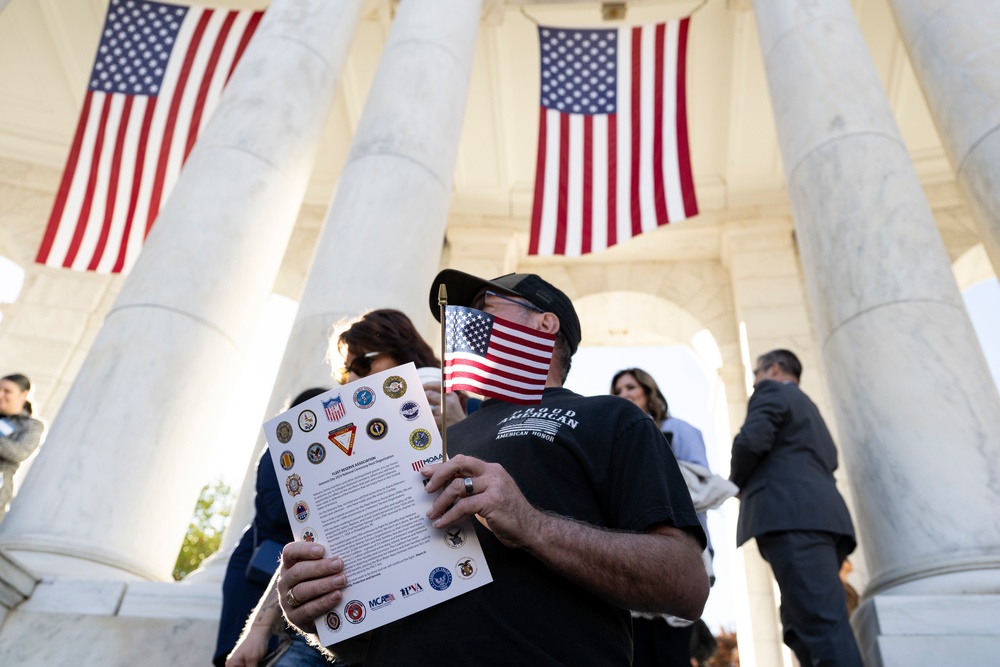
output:
[{"label": "woman with pulled-back dark hair at far left edge", "polygon": [[14,496],[14,473],[42,439],[42,422],[31,416],[31,381],[21,374],[0,379],[0,521]]}]

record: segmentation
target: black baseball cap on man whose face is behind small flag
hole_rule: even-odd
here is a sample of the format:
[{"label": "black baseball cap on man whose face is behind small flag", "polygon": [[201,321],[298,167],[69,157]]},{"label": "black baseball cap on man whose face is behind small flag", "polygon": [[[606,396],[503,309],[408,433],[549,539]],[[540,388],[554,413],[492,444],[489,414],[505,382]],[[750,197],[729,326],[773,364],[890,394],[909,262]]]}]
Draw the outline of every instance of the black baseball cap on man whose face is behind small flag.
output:
[{"label": "black baseball cap on man whose face is behind small flag", "polygon": [[488,289],[501,294],[527,299],[547,313],[559,318],[559,330],[569,343],[570,354],[576,353],[580,345],[580,318],[576,308],[562,290],[542,280],[534,273],[508,273],[505,276],[486,280],[455,269],[444,269],[431,284],[430,306],[434,319],[441,321],[438,306],[438,288],[448,289],[448,304],[451,306],[471,306],[472,300],[482,290]]}]

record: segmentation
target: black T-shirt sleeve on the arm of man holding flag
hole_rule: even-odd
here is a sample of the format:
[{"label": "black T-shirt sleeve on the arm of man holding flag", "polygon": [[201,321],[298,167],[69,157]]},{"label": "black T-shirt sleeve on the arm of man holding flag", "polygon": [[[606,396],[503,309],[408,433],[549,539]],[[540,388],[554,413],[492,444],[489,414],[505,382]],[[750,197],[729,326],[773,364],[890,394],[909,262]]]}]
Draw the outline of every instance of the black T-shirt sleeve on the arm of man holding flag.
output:
[{"label": "black T-shirt sleeve on the arm of man holding flag", "polygon": [[645,532],[665,523],[690,534],[704,549],[705,531],[659,427],[643,415],[623,421],[608,468],[611,527]]}]

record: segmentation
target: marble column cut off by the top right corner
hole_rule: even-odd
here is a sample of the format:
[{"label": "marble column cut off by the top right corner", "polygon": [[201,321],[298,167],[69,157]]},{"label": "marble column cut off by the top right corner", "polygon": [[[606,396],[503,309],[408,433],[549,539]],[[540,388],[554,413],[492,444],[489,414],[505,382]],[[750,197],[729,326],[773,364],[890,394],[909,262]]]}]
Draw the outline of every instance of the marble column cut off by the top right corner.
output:
[{"label": "marble column cut off by the top right corner", "polygon": [[1000,3],[890,0],[889,5],[1000,274]]}]

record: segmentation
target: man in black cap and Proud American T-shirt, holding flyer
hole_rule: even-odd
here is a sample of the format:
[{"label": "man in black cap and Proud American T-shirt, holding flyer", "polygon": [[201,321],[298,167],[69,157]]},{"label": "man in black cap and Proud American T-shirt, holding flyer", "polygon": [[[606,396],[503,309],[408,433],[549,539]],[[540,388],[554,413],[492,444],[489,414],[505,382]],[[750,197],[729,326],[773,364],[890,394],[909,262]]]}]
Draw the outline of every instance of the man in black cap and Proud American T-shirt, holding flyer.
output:
[{"label": "man in black cap and Proud American T-shirt, holding flyer", "polygon": [[[420,471],[440,494],[427,516],[439,528],[479,519],[493,583],[377,628],[366,664],[631,664],[625,610],[695,619],[708,597],[705,535],[670,448],[628,401],[562,387],[580,343],[563,292],[533,274],[444,270],[436,316],[441,284],[459,306],[447,316],[448,388],[499,398],[450,427],[451,458]],[[494,344],[503,331],[525,342]],[[555,341],[534,405],[520,376],[537,368],[516,351],[537,347],[532,334]],[[307,542],[282,554],[282,610],[306,631],[346,585],[343,561],[322,556]]]}]

